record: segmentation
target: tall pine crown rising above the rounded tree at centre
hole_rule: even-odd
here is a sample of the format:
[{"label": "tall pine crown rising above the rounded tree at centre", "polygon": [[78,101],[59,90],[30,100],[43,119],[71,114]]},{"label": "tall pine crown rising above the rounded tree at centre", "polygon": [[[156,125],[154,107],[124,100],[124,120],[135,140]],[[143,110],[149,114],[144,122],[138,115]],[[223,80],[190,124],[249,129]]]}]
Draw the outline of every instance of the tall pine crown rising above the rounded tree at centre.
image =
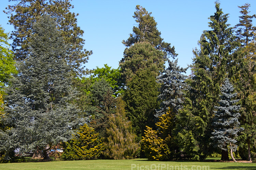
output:
[{"label": "tall pine crown rising above the rounded tree at centre", "polygon": [[163,38],[160,37],[161,32],[157,30],[157,22],[155,18],[151,16],[151,12],[148,13],[145,8],[140,5],[136,6],[136,11],[134,12],[133,18],[135,18],[138,27],[133,27],[133,33],[123,44],[126,47],[138,42],[148,42],[154,46],[157,50],[165,52],[167,56],[172,56],[173,58],[177,56],[174,50],[174,46],[171,47],[170,43],[165,43]]}]

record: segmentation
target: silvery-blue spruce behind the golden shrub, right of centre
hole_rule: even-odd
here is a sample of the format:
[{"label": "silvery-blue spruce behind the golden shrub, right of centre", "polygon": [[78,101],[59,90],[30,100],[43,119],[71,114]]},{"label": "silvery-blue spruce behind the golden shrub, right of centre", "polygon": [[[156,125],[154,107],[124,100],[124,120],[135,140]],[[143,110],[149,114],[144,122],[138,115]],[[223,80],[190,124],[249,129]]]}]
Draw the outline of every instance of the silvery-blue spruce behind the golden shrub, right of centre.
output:
[{"label": "silvery-blue spruce behind the golden shrub, right of centre", "polygon": [[160,109],[156,112],[156,117],[166,114],[171,109],[172,113],[177,114],[178,110],[182,107],[184,94],[182,90],[186,88],[185,78],[182,73],[187,68],[180,68],[177,66],[178,60],[168,60],[169,67],[157,77],[157,82],[160,83],[160,95],[158,96]]}]

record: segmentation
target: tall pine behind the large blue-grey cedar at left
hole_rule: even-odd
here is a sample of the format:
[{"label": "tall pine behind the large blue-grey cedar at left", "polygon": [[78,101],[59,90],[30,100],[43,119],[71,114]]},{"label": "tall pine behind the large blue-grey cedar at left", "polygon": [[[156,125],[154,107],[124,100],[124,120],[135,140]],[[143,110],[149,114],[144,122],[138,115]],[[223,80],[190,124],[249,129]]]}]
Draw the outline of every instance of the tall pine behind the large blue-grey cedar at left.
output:
[{"label": "tall pine behind the large blue-grey cedar at left", "polygon": [[6,14],[9,14],[9,23],[14,26],[11,33],[13,39],[12,48],[17,60],[22,60],[28,55],[29,42],[32,35],[32,25],[41,15],[49,15],[55,18],[58,24],[57,29],[66,44],[71,44],[65,56],[66,62],[73,67],[77,73],[84,72],[84,65],[88,56],[92,53],[83,49],[84,31],[77,26],[76,16],[70,12],[73,6],[69,0],[10,0],[16,2],[6,7]]}]

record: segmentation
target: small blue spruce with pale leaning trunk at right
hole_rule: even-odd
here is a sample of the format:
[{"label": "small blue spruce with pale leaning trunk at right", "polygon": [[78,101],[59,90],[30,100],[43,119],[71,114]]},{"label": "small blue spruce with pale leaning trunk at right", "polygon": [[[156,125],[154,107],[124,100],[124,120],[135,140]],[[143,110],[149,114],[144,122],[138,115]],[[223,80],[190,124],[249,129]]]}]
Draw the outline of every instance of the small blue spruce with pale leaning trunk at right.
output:
[{"label": "small blue spruce with pale leaning trunk at right", "polygon": [[[237,149],[236,137],[238,132],[241,130],[239,128],[238,118],[239,105],[236,103],[239,100],[233,100],[237,96],[237,93],[233,93],[233,85],[230,84],[229,79],[226,78],[222,87],[220,96],[221,100],[218,102],[219,106],[214,106],[216,111],[214,111],[213,128],[212,132],[213,146],[220,148],[222,151],[227,151],[227,146],[231,150],[231,157],[236,162],[233,157],[232,151]],[[221,160],[228,160],[228,156],[225,155],[226,152],[222,152]]]}]

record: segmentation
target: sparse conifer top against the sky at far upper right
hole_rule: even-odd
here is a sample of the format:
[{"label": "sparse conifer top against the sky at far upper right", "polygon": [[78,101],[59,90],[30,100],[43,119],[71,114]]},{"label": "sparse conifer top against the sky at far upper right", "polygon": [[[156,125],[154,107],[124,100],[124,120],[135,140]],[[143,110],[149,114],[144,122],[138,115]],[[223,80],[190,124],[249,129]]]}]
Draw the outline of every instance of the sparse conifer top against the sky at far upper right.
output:
[{"label": "sparse conifer top against the sky at far upper right", "polygon": [[238,40],[242,43],[242,45],[247,45],[255,36],[253,32],[256,31],[256,27],[253,27],[252,19],[256,18],[256,15],[248,15],[250,13],[250,11],[248,11],[250,6],[251,5],[248,3],[238,6],[241,8],[240,13],[242,16],[239,17],[239,23],[236,24],[235,28],[237,29],[236,33]]}]

